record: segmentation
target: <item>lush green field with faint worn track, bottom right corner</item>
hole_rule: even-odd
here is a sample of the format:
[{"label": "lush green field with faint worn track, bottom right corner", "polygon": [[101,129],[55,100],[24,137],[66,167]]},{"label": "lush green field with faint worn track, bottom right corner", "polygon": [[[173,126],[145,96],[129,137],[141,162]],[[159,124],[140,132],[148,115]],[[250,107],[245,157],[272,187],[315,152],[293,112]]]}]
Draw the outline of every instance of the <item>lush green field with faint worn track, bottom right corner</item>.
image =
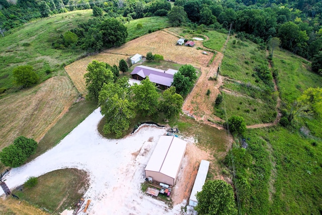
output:
[{"label": "lush green field with faint worn track, bottom right corner", "polygon": [[246,152],[234,150],[243,213],[319,214],[322,141],[313,146],[282,127],[251,129],[245,137]]}]

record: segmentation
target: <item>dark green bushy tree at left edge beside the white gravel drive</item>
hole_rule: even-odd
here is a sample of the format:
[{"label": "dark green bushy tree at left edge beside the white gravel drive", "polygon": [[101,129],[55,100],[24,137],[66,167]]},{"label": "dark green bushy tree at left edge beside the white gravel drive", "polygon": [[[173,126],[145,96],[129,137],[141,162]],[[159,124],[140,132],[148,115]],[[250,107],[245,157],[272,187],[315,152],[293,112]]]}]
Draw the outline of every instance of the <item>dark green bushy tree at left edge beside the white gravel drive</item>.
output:
[{"label": "dark green bushy tree at left edge beside the white gravel drive", "polygon": [[19,136],[14,140],[14,144],[0,152],[0,160],[6,166],[19,167],[36,152],[37,146],[34,139]]}]

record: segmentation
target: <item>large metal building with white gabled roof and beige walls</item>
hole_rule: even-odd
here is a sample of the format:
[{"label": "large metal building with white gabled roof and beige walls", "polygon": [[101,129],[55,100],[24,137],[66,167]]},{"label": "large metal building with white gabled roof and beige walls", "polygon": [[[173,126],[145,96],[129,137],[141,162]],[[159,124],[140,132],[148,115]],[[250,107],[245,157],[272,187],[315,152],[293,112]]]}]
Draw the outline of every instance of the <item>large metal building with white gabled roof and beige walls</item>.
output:
[{"label": "large metal building with white gabled roof and beige walls", "polygon": [[161,136],[145,167],[145,177],[174,186],[186,153],[187,142],[175,136]]}]

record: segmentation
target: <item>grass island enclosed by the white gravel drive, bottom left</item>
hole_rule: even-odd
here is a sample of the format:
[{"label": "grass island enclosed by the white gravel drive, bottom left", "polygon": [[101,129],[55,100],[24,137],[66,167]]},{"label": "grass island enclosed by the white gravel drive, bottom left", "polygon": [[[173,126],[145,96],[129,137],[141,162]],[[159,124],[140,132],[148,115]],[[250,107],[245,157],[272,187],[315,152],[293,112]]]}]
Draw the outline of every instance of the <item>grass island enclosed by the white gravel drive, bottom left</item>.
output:
[{"label": "grass island enclosed by the white gravel drive, bottom left", "polygon": [[50,214],[60,214],[72,209],[78,198],[83,197],[89,184],[88,174],[83,170],[55,170],[38,177],[38,184],[32,188],[15,191],[21,200],[39,208],[46,208]]}]

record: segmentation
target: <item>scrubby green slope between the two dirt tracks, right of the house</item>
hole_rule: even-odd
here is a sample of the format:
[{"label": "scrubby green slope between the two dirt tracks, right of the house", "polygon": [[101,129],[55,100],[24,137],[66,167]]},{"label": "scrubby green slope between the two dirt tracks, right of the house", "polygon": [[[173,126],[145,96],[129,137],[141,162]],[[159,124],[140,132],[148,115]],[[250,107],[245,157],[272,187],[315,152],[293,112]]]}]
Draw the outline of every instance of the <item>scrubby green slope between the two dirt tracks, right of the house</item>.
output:
[{"label": "scrubby green slope between the two dirt tracks, right of the house", "polygon": [[277,94],[257,76],[254,68],[259,65],[268,65],[264,50],[251,41],[229,39],[219,71],[225,104],[215,107],[217,116],[224,119],[226,107],[227,117],[243,116],[247,125],[275,120]]}]

